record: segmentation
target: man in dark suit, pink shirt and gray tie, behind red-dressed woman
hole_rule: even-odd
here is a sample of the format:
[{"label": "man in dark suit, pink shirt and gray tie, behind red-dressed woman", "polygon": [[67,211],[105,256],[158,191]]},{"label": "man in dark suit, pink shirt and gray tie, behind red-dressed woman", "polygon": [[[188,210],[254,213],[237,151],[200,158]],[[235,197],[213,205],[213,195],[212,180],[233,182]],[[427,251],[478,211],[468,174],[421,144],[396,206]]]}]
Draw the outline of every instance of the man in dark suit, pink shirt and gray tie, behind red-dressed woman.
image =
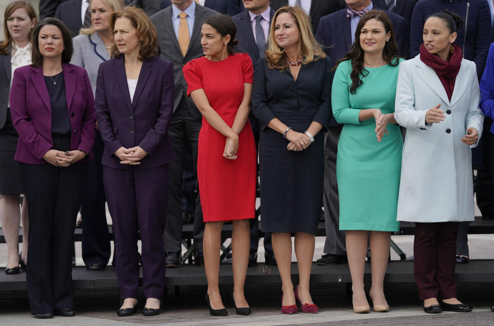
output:
[{"label": "man in dark suit, pink shirt and gray tie, behind red-dressed woman", "polygon": [[[232,17],[237,26],[238,40],[237,51],[249,54],[252,64],[255,66],[257,60],[264,56],[266,41],[268,40],[269,27],[274,15],[274,10],[269,6],[269,0],[245,0],[244,12]],[[256,17],[261,16],[259,22]],[[249,121],[254,132],[256,146],[259,147],[259,122],[252,112]],[[251,220],[251,250],[249,253],[249,266],[257,264],[257,248],[259,245],[259,220]],[[271,234],[264,234],[264,259],[267,264],[276,264],[273,246],[271,245]]]}]

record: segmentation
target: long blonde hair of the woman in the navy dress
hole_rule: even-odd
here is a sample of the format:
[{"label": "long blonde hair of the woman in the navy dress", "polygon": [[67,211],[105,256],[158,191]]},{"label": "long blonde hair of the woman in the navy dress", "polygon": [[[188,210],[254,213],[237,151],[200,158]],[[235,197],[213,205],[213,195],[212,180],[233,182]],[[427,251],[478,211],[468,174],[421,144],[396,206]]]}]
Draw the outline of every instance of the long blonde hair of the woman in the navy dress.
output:
[{"label": "long blonde hair of the woman in the navy dress", "polygon": [[298,27],[298,55],[302,57],[302,64],[306,65],[312,61],[324,59],[326,53],[324,53],[321,44],[317,43],[315,40],[309,16],[307,16],[305,11],[301,8],[285,6],[279,8],[271,20],[271,29],[268,36],[268,50],[266,50],[268,68],[286,69],[288,67],[285,49],[279,47],[274,37],[276,18],[285,12],[293,17]]}]

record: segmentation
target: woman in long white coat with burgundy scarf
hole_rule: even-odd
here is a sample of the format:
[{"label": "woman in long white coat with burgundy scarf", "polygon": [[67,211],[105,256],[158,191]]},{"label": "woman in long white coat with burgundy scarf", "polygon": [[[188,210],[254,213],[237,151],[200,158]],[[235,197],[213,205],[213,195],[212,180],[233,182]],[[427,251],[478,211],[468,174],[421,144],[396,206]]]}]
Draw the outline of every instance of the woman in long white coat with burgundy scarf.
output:
[{"label": "woman in long white coat with burgundy scarf", "polygon": [[458,222],[474,217],[471,147],[484,116],[475,64],[454,44],[461,27],[447,10],[431,15],[396,89],[395,119],[407,128],[398,220],[415,222],[415,282],[427,313],[472,310],[456,299],[454,268]]}]

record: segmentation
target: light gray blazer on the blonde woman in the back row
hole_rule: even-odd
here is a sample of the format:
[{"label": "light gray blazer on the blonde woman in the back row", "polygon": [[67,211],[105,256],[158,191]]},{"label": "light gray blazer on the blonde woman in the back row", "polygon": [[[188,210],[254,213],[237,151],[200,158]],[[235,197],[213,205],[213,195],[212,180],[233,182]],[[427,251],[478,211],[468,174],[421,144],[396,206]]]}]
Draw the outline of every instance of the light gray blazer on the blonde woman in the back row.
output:
[{"label": "light gray blazer on the blonde woman in the back row", "polygon": [[70,63],[87,71],[87,76],[93,88],[93,95],[96,93],[96,79],[98,78],[99,64],[110,60],[107,48],[99,34],[80,34],[72,39],[74,43],[74,54]]}]

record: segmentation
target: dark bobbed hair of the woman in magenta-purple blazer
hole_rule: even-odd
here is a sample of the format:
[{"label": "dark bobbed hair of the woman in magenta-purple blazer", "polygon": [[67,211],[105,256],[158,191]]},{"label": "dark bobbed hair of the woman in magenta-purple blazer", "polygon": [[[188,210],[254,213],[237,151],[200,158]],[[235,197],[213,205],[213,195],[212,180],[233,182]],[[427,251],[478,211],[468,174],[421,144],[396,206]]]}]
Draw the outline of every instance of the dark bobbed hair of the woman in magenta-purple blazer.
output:
[{"label": "dark bobbed hair of the woman in magenta-purple blazer", "polygon": [[62,32],[62,62],[70,63],[70,59],[72,59],[72,53],[74,53],[74,46],[72,45],[72,35],[70,35],[70,31],[68,30],[67,26],[65,26],[65,24],[57,18],[46,17],[36,26],[34,26],[34,29],[32,31],[31,61],[32,66],[35,68],[39,68],[43,65],[43,54],[41,54],[40,52],[38,37],[40,36],[41,29],[47,25],[57,26]]}]

